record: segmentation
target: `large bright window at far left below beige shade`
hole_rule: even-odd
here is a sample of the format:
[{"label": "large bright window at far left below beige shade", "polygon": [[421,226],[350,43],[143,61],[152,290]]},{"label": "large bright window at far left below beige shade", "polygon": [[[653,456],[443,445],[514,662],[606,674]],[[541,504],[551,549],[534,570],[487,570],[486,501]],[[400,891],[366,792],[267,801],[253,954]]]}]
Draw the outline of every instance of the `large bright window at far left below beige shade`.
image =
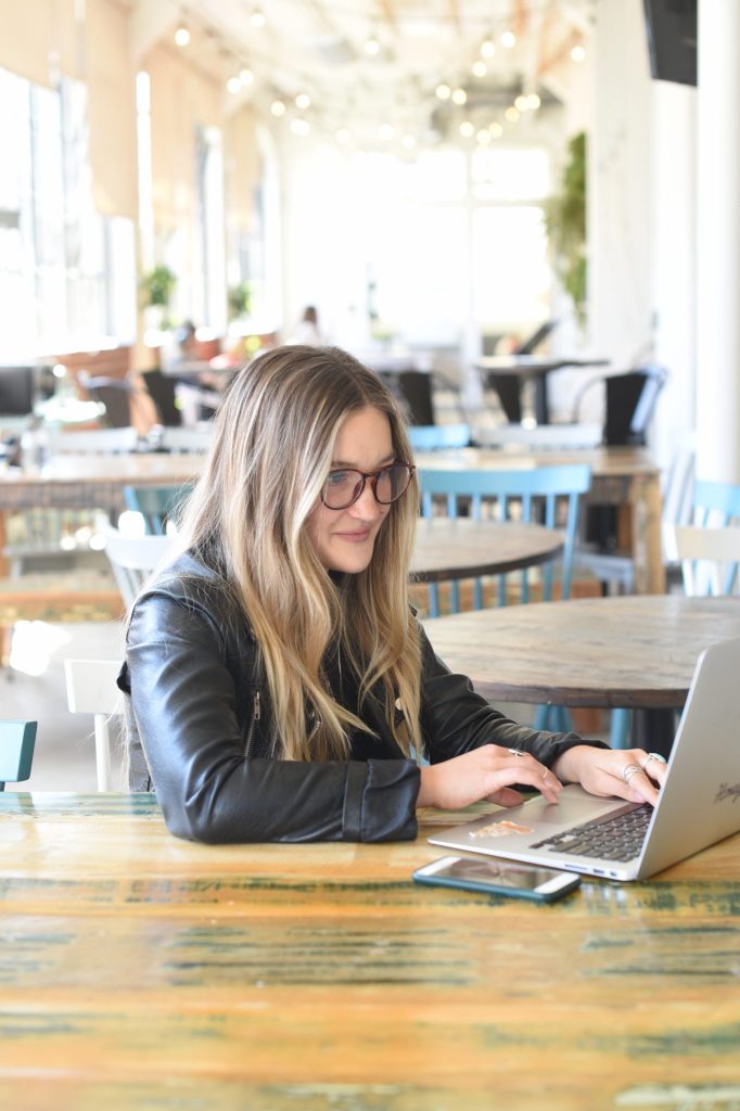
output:
[{"label": "large bright window at far left below beige shade", "polygon": [[0,70],[0,356],[131,342],[133,224],[94,209],[84,86]]}]

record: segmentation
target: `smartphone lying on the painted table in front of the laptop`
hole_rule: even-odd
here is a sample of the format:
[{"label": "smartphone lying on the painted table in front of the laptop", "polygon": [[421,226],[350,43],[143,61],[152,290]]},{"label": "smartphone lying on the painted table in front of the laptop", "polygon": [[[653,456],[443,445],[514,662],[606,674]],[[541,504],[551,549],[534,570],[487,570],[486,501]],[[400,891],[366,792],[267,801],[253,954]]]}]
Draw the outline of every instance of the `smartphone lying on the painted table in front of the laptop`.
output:
[{"label": "smartphone lying on the painted table in front of the laptop", "polygon": [[418,868],[412,879],[417,883],[533,899],[534,902],[554,902],[581,882],[580,875],[572,872],[559,872],[554,868],[539,868],[537,864],[516,864],[490,857],[480,860],[474,857],[441,857],[431,864]]}]

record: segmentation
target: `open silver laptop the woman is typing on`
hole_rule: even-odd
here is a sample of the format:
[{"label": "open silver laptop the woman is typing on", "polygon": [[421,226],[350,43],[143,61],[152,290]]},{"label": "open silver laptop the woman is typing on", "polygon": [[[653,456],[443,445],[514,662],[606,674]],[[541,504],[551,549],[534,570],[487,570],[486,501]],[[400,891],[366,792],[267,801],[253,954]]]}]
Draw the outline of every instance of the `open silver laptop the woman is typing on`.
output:
[{"label": "open silver laptop the woman is typing on", "polygon": [[[568,785],[456,825],[432,844],[547,864],[612,880],[640,880],[740,830],[740,639],[697,662],[653,809],[598,799]],[[624,827],[622,830],[621,827]]]}]

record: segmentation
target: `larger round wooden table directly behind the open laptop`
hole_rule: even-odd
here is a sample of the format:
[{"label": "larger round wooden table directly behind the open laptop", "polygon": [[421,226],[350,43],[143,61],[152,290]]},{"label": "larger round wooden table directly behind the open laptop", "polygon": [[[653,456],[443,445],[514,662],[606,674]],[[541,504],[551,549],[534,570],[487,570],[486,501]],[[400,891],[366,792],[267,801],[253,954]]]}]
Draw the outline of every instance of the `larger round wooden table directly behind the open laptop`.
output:
[{"label": "larger round wooden table directly behind the open laptop", "polygon": [[683,705],[700,652],[740,637],[740,598],[634,594],[426,621],[434,650],[499,702]]}]

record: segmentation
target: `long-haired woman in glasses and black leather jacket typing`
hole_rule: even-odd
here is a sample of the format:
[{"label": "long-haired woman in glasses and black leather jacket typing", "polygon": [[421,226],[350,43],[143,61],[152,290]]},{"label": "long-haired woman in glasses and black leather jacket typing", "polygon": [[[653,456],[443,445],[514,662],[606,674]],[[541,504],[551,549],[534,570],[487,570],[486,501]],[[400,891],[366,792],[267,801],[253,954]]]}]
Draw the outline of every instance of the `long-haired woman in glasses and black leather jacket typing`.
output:
[{"label": "long-haired woman in glasses and black leather jacket typing", "polygon": [[513,784],[557,802],[563,781],[654,802],[640,768],[621,778],[636,753],[517,725],[434,655],[407,595],[410,460],[392,397],[343,351],[277,348],[234,380],[119,681],[131,787],[173,833],[410,839],[418,807],[511,805]]}]

